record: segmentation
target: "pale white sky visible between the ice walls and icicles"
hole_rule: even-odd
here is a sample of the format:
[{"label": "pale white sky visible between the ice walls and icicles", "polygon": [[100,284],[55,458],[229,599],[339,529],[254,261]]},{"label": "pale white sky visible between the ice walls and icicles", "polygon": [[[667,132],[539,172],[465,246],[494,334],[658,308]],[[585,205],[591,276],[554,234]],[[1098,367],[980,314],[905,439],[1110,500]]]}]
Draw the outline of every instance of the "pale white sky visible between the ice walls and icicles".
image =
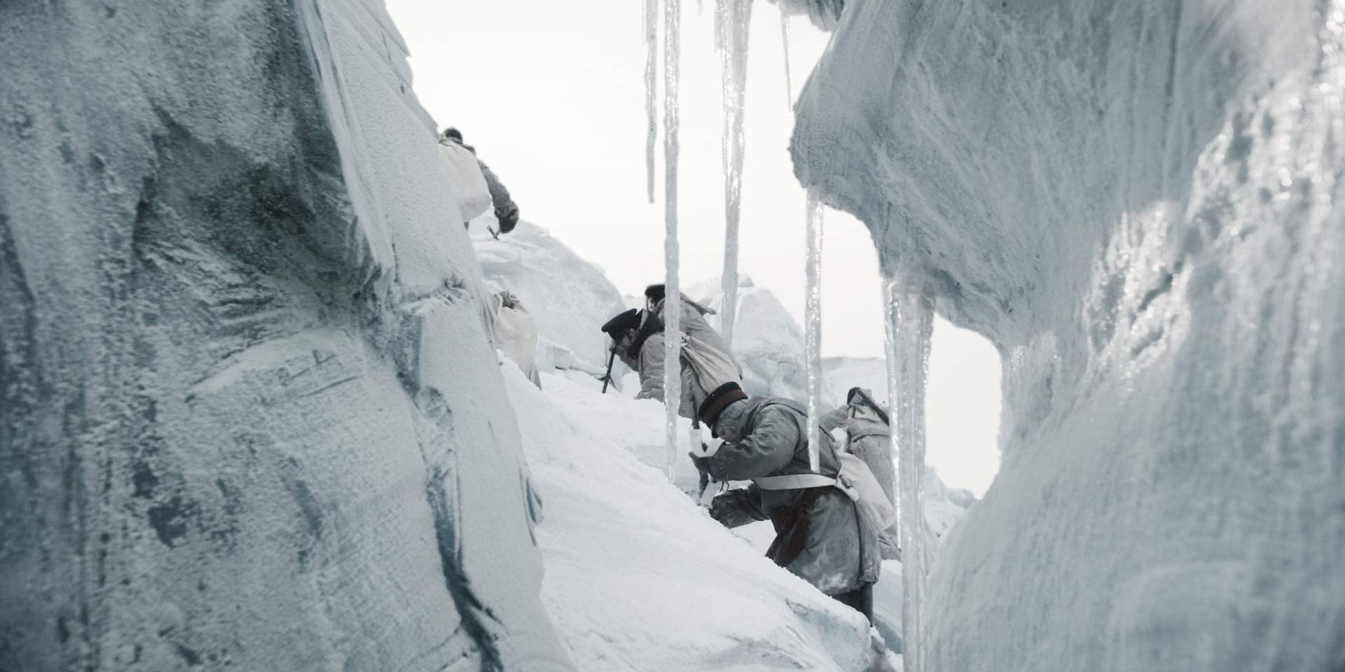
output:
[{"label": "pale white sky visible between the ice walls and icicles", "polygon": [[[440,128],[457,126],[476,146],[523,219],[601,266],[621,293],[663,281],[662,55],[656,203],[650,204],[639,0],[387,0],[387,9],[412,51],[421,103]],[[682,9],[678,219],[681,280],[690,285],[724,265],[722,110],[714,1],[699,11],[682,0]],[[787,91],[780,15],[773,4],[753,3],[738,273],[769,288],[800,324],[804,195],[788,153],[790,101],[829,39],[806,17],[791,17]],[[823,355],[882,356],[869,231],[827,210],[824,237]],[[929,462],[946,482],[979,496],[998,469],[999,360],[989,341],[958,332],[936,324]]]}]

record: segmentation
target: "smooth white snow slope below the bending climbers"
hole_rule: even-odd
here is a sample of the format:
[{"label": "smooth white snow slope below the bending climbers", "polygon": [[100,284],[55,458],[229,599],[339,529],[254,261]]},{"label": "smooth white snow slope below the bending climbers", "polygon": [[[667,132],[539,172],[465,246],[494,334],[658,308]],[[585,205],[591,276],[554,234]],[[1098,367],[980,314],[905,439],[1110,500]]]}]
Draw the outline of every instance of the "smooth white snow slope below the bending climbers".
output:
[{"label": "smooth white snow slope below the bending climbers", "polygon": [[[545,512],[542,601],[580,669],[865,668],[858,612],[765,559],[652,466],[662,403],[560,375],[538,390],[506,364]],[[694,469],[682,476],[694,484]]]}]

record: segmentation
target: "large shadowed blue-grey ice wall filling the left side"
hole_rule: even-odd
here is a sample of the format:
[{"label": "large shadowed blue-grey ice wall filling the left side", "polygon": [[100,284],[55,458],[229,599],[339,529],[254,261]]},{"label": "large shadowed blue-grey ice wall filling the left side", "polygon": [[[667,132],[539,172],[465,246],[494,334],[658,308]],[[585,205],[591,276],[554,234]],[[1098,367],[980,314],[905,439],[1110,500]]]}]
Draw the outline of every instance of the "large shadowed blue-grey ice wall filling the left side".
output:
[{"label": "large shadowed blue-grey ice wall filling the left side", "polygon": [[0,44],[0,669],[570,669],[382,4]]}]

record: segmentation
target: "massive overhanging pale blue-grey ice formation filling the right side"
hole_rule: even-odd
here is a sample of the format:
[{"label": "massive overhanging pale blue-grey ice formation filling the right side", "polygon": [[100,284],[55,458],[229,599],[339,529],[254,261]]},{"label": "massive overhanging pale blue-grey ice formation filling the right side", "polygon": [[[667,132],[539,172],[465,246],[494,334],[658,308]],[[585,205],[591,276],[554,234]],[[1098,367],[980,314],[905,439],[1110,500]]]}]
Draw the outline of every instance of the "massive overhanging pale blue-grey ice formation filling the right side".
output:
[{"label": "massive overhanging pale blue-grey ice formation filling the right side", "polygon": [[1336,669],[1345,7],[847,3],[796,171],[1005,358],[932,669]]}]

